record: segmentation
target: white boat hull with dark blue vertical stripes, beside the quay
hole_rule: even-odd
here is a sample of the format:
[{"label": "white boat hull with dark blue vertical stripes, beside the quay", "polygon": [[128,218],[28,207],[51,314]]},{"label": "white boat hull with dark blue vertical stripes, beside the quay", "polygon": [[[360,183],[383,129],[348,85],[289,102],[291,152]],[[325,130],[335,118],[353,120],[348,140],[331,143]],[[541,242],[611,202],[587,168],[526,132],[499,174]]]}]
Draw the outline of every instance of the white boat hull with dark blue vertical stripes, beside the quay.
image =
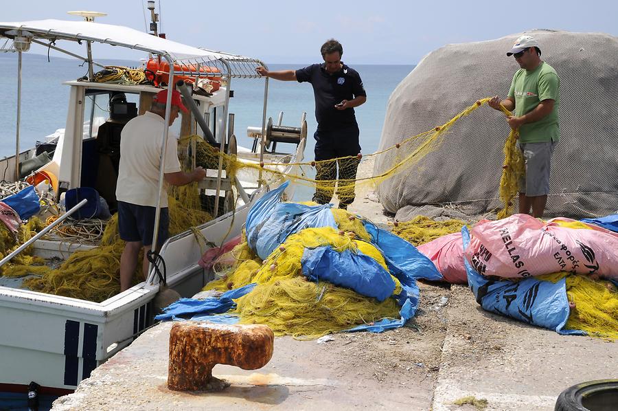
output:
[{"label": "white boat hull with dark blue vertical stripes, beside the quay", "polygon": [[[255,195],[254,201],[259,197]],[[219,245],[240,234],[249,206],[198,229]],[[211,280],[211,274],[197,264],[204,251],[192,232],[174,236],[163,245],[168,285],[181,296],[193,296]],[[45,252],[49,255],[49,241]],[[30,381],[44,388],[74,390],[95,367],[150,325],[158,290],[154,274],[100,303],[0,287],[0,390]]]}]

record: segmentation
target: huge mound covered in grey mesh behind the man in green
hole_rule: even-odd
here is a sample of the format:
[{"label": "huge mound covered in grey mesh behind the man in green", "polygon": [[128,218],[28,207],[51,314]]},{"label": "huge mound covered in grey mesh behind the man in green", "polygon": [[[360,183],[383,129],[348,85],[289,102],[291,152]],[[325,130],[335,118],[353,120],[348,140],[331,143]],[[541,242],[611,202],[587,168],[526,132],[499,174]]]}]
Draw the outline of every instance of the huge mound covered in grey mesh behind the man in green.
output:
[{"label": "huge mound covered in grey mesh behind the man in green", "polygon": [[[560,142],[547,215],[611,214],[618,209],[618,39],[550,30],[526,34],[537,39],[541,58],[560,76]],[[428,54],[391,94],[380,150],[446,122],[479,98],[505,98],[519,68],[505,52],[518,36],[446,45]],[[488,107],[461,118],[411,173],[378,186],[380,202],[393,213],[425,204],[455,204],[468,215],[501,208],[499,182],[509,133],[504,115]],[[422,144],[421,139],[402,151],[380,154],[374,174],[386,173]]]}]

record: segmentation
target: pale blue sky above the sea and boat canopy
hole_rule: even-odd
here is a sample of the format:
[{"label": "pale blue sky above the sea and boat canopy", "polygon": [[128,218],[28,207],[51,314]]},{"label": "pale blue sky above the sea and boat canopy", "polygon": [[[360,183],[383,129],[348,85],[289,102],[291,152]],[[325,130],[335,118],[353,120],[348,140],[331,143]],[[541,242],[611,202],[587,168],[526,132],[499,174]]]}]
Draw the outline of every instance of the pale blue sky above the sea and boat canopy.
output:
[{"label": "pale blue sky above the sea and boat canopy", "polygon": [[[0,21],[76,19],[66,12],[94,10],[108,13],[97,19],[99,23],[144,30],[145,3],[3,1]],[[410,65],[449,43],[490,40],[535,28],[618,36],[615,1],[157,0],[157,9],[159,3],[168,38],[266,63],[313,63],[321,58],[321,44],[331,37],[343,44],[347,63]],[[148,14],[146,18],[150,21]],[[98,58],[133,58],[107,46],[95,52]]]}]

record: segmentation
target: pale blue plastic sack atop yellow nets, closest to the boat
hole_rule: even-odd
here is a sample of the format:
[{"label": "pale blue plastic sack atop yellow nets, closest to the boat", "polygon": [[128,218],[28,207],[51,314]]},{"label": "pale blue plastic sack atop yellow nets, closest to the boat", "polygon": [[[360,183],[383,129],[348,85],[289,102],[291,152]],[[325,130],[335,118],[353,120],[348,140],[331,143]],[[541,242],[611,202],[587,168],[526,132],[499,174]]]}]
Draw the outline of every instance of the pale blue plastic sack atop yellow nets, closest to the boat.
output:
[{"label": "pale blue plastic sack atop yellow nets, closest to the boat", "polygon": [[262,260],[286,241],[290,234],[305,228],[337,228],[330,204],[304,206],[297,203],[282,203],[281,195],[289,181],[266,193],[247,214],[247,243]]}]

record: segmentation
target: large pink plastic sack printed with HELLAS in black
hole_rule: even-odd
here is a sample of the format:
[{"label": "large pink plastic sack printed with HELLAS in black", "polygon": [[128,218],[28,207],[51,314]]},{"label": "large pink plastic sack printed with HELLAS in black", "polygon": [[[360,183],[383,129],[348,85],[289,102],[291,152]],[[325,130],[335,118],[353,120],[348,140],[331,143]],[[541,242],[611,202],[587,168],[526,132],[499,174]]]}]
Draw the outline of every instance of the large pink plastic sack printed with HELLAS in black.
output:
[{"label": "large pink plastic sack printed with HELLAS in black", "polygon": [[472,267],[485,276],[525,278],[558,271],[618,278],[618,234],[595,225],[591,230],[543,223],[527,214],[498,221],[479,221],[472,227],[464,253]]}]

